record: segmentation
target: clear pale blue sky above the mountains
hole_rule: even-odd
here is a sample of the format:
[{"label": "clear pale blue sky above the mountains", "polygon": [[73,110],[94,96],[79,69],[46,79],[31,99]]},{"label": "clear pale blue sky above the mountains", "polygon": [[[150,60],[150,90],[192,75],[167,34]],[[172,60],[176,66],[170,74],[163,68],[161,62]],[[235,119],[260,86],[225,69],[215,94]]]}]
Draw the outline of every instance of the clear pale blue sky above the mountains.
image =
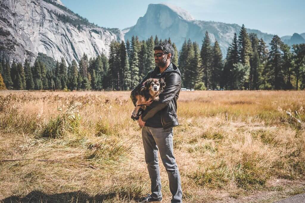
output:
[{"label": "clear pale blue sky above the mountains", "polygon": [[166,2],[196,20],[245,24],[280,37],[305,32],[304,0],[61,0],[66,7],[103,27],[124,29],[144,16],[150,3]]}]

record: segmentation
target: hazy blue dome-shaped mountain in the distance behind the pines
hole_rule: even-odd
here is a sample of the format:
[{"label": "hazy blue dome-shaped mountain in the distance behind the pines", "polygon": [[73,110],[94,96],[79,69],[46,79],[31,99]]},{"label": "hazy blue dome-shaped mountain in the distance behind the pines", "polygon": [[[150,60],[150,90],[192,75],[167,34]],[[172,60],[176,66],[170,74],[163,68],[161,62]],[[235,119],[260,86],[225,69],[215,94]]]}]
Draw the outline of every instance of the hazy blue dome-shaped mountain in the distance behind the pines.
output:
[{"label": "hazy blue dome-shaped mountain in the distance behind the pines", "polygon": [[[184,40],[190,38],[202,45],[204,33],[209,32],[212,43],[218,41],[221,51],[225,55],[232,43],[234,33],[239,34],[241,26],[212,21],[194,20],[187,11],[167,4],[149,4],[147,12],[140,17],[135,26],[122,30],[125,39],[131,39],[132,35],[138,35],[140,40],[146,40],[151,35],[157,35],[162,39],[174,42],[178,49],[182,47]],[[257,37],[263,38],[270,43],[273,35],[262,33],[259,30],[248,29],[248,33],[256,33]]]}]

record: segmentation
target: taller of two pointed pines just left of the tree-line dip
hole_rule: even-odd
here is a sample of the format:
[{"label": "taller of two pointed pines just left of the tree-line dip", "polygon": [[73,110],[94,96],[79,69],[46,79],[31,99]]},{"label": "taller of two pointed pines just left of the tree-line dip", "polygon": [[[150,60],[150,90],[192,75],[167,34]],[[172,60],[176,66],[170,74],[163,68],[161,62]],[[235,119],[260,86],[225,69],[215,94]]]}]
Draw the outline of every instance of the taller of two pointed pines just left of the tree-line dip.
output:
[{"label": "taller of two pointed pines just left of the tree-line dip", "polygon": [[201,47],[201,61],[203,66],[203,81],[207,89],[211,87],[211,64],[212,64],[212,48],[210,45],[210,37],[208,31],[205,33],[203,44]]}]

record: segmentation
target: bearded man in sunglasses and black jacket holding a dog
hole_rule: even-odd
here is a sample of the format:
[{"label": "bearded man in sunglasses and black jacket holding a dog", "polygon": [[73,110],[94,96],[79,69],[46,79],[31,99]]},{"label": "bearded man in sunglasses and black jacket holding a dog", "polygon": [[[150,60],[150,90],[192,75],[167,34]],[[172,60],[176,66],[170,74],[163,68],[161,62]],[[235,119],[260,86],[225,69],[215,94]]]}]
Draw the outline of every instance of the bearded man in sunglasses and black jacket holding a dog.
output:
[{"label": "bearded man in sunglasses and black jacket holding a dog", "polygon": [[159,95],[159,101],[153,101],[139,117],[142,127],[142,140],[145,152],[145,162],[151,179],[152,194],[140,198],[138,202],[161,202],[161,180],[158,162],[158,149],[162,163],[166,168],[172,203],[182,202],[180,173],[173,153],[173,127],[179,125],[177,118],[177,100],[181,89],[181,74],[178,67],[171,63],[174,58],[174,48],[168,42],[162,42],[154,47],[156,68],[150,71],[142,82],[131,92],[131,100],[136,104],[135,93],[143,82],[149,78],[163,78],[165,88]]}]

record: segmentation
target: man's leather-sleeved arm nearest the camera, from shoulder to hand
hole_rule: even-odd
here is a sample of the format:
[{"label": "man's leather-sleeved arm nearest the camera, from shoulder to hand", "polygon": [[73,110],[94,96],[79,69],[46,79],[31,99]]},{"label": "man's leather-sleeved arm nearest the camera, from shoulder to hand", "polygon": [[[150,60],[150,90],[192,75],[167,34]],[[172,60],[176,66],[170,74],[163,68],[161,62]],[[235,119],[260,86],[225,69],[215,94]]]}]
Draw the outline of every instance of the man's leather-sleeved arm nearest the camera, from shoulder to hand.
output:
[{"label": "man's leather-sleeved arm nearest the camera, from shoulder to hand", "polygon": [[159,95],[160,100],[154,101],[146,107],[146,110],[142,114],[142,121],[146,122],[170,103],[181,87],[180,75],[178,73],[170,73],[165,85],[165,89]]}]

